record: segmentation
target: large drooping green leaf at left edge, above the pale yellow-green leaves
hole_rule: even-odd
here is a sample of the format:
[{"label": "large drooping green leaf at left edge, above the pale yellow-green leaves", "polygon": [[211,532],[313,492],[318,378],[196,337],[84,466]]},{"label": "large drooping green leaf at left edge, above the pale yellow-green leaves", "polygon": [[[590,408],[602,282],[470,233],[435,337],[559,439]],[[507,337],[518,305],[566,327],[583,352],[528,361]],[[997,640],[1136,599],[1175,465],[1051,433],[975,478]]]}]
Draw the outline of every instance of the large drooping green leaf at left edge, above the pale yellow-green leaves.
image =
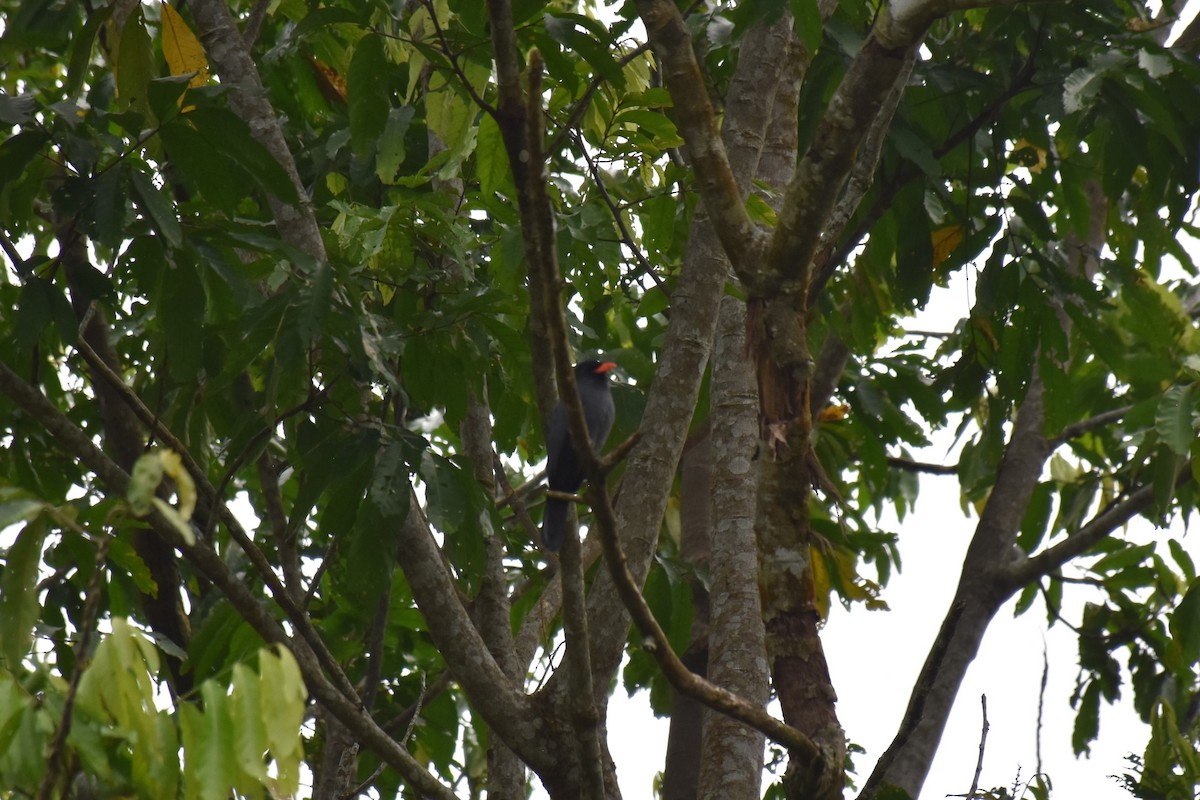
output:
[{"label": "large drooping green leaf at left edge, above the pale yellow-green leaves", "polygon": [[41,603],[37,599],[37,569],[42,561],[42,543],[49,533],[46,516],[38,516],[17,534],[17,541],[4,558],[0,573],[0,656],[13,673],[34,642]]}]

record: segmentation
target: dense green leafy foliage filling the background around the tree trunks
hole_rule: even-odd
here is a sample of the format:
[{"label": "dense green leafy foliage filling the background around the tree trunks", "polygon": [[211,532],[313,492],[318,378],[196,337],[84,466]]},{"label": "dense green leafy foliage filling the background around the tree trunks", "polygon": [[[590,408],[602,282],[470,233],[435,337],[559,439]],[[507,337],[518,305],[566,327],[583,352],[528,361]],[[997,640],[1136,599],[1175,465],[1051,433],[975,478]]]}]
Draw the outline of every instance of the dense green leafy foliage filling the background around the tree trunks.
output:
[{"label": "dense green leafy foliage filling the background around the tree trunks", "polygon": [[[746,28],[781,5],[689,18],[718,102]],[[535,543],[474,479],[458,433],[486,386],[511,482],[532,476],[542,455],[515,190],[500,131],[480,109],[496,102],[484,4],[401,6],[282,0],[254,44],[304,201],[322,225],[328,260],[318,261],[276,230],[268,196],[300,198],[230,110],[228,86],[188,88],[188,76],[168,73],[157,4],[134,6],[118,29],[109,6],[0,2],[0,361],[98,435],[78,349],[80,312],[94,303],[110,321],[121,379],[257,519],[268,500],[264,474],[250,465],[270,455],[310,577],[323,567],[311,618],[352,680],[366,669],[365,620],[390,587],[380,720],[402,720],[444,670],[378,535],[408,512],[397,486],[421,487],[463,593],[478,590],[492,535],[508,552],[515,625],[546,583]],[[802,92],[803,150],[875,8],[844,2],[822,26],[815,4],[788,6],[800,40],[818,48]],[[606,7],[611,24],[595,11],[522,0],[515,22],[521,47],[546,62],[572,345],[619,362],[613,440],[623,440],[655,379],[698,199],[671,97],[649,53],[635,49],[632,8]],[[1051,439],[1099,415],[1112,422],[1063,437],[1026,511],[1026,553],[1141,486],[1152,487],[1153,522],[1194,510],[1200,338],[1183,242],[1195,234],[1200,68],[1164,48],[1150,23],[1141,4],[1114,1],[972,10],[935,24],[874,185],[832,242],[844,258],[814,314],[814,347],[836,335],[853,354],[836,395],[848,414],[817,443],[852,510],[840,522],[835,509],[814,510],[828,540],[822,590],[833,599],[875,602],[893,578],[902,542],[880,530],[878,513],[902,518],[916,503],[917,482],[894,459],[930,429],[950,427],[965,443],[964,503],[986,499],[1034,369]],[[751,210],[773,221],[761,200]],[[1076,277],[1067,260],[1096,227],[1106,246],[1092,254],[1096,273]],[[958,245],[938,252],[947,231]],[[68,277],[61,254],[77,245],[91,269]],[[964,270],[977,290],[958,326],[940,341],[906,336],[906,317]],[[696,421],[707,414],[702,397]],[[146,638],[138,597],[154,579],[130,543],[137,523],[122,499],[5,398],[0,443],[0,784],[11,787],[0,794],[36,789],[82,666],[80,632],[97,621],[104,633],[66,742],[90,780],[142,796],[293,790],[304,694],[296,675],[268,675],[287,672],[287,657],[186,564],[191,639]],[[224,527],[202,517],[197,525],[264,594]],[[272,540],[257,541],[277,563]],[[1102,700],[1132,691],[1154,740],[1130,786],[1190,796],[1200,780],[1189,711],[1200,662],[1194,564],[1180,542],[1162,552],[1114,535],[1072,577],[1080,575],[1098,593],[1072,621],[1074,746],[1097,735]],[[665,535],[646,595],[680,649],[695,577]],[[89,616],[91,585],[98,606]],[[1052,575],[1025,588],[1019,608],[1038,604],[1055,622],[1067,590]],[[151,642],[184,656],[203,712],[187,703],[175,715],[157,710]],[[120,669],[106,648],[128,654]],[[652,686],[666,712],[665,684],[636,648],[624,680]],[[268,729],[246,727],[254,708],[272,709]],[[451,688],[421,709],[409,747],[446,781],[470,780],[485,747],[479,730]],[[365,775],[373,758],[364,754]],[[390,795],[398,778],[385,770],[372,786]]]}]

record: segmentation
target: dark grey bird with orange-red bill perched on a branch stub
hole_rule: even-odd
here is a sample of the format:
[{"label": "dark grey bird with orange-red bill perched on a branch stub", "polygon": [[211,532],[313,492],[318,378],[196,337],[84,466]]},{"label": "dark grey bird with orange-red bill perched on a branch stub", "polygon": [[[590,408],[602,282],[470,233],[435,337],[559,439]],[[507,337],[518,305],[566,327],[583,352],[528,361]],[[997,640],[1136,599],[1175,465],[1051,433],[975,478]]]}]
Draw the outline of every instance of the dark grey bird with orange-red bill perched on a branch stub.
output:
[{"label": "dark grey bird with orange-red bill perched on a branch stub", "polygon": [[[617,365],[612,361],[581,361],[575,365],[575,386],[583,404],[583,420],[588,426],[588,438],[592,447],[600,450],[608,432],[616,409],[612,404],[612,392],[608,387],[608,373]],[[554,492],[577,492],[583,483],[583,465],[571,444],[571,433],[566,425],[566,407],[559,401],[550,417],[550,429],[546,432],[546,482]],[[541,543],[547,551],[557,553],[563,547],[566,533],[566,512],[569,504],[558,498],[546,498],[546,510],[541,519]]]}]

